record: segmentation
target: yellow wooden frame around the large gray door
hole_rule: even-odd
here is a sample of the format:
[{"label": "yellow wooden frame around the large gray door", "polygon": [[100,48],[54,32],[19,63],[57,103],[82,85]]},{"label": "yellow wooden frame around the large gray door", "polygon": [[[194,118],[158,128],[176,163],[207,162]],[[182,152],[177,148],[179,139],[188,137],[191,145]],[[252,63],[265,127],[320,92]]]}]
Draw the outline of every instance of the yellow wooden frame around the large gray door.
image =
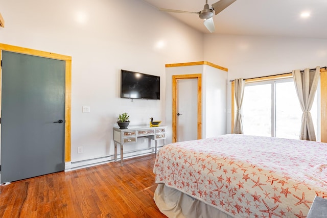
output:
[{"label": "yellow wooden frame around the large gray door", "polygon": [[[16,52],[26,55],[34,55],[44,58],[51,58],[65,61],[65,162],[71,161],[71,101],[72,101],[72,57],[59,55],[50,52],[43,52],[25,47],[0,43],[0,60],[2,51]],[[2,98],[2,67],[0,67],[0,117],[1,117],[1,98]]]}]

